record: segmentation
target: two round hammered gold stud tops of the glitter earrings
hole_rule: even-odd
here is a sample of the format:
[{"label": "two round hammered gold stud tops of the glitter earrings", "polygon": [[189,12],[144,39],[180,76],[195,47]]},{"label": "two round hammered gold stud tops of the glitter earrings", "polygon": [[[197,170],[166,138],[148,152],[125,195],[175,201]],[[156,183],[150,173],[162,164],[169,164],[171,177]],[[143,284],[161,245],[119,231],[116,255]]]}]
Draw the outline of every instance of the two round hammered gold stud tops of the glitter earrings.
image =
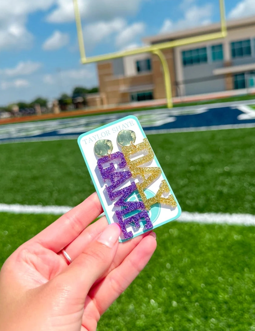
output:
[{"label": "two round hammered gold stud tops of the glitter earrings", "polygon": [[[133,145],[136,134],[131,130],[122,130],[118,133],[117,142],[120,146]],[[107,156],[112,153],[113,143],[108,139],[100,139],[95,143],[94,152],[97,156]]]}]

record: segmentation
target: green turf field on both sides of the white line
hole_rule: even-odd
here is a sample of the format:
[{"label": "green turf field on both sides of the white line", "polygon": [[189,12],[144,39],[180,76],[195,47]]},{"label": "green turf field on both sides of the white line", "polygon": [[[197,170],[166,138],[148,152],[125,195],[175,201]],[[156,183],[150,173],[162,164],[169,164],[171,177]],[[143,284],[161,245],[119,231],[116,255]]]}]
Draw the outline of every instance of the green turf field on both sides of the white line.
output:
[{"label": "green turf field on both sides of the white line", "polygon": [[[148,136],[183,211],[255,214],[255,129]],[[0,203],[75,206],[94,191],[76,141],[0,145]],[[56,219],[1,213],[0,263]],[[255,330],[255,228],[172,222],[98,330]]]}]

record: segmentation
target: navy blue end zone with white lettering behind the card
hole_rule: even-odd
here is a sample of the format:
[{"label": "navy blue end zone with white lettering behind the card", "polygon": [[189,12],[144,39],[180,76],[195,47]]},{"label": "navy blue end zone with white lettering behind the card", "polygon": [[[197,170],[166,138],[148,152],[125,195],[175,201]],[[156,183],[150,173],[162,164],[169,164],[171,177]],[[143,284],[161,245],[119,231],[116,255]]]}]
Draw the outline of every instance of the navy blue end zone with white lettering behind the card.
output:
[{"label": "navy blue end zone with white lettering behind the card", "polygon": [[248,106],[187,107],[1,125],[0,143],[76,139],[127,115],[136,116],[147,134],[255,127],[255,111]]}]

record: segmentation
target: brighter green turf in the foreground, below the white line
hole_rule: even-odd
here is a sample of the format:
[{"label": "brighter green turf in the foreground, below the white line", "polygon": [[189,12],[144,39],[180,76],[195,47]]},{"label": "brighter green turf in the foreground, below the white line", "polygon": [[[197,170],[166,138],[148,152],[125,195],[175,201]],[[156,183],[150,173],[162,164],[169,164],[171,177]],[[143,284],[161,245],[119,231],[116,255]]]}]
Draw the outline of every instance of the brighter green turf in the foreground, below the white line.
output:
[{"label": "brighter green turf in the foreground, below the white line", "polygon": [[[0,263],[57,216],[0,214]],[[98,331],[239,331],[255,327],[255,227],[172,222],[103,315]]]}]

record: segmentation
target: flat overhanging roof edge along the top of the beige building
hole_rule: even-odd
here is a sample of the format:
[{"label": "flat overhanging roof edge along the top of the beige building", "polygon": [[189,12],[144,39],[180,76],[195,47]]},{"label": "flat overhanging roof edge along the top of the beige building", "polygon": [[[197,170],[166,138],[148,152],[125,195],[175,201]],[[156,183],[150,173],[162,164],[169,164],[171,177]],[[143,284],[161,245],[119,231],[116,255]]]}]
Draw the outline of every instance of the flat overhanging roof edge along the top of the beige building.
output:
[{"label": "flat overhanging roof edge along the top of the beige building", "polygon": [[[227,22],[227,29],[236,29],[255,24],[255,16],[245,17],[239,20],[230,20]],[[218,32],[221,29],[221,23],[203,25],[192,29],[180,30],[171,33],[158,34],[156,36],[146,37],[143,42],[146,44],[157,44],[159,42],[181,39],[196,35],[203,35],[211,32]]]}]

